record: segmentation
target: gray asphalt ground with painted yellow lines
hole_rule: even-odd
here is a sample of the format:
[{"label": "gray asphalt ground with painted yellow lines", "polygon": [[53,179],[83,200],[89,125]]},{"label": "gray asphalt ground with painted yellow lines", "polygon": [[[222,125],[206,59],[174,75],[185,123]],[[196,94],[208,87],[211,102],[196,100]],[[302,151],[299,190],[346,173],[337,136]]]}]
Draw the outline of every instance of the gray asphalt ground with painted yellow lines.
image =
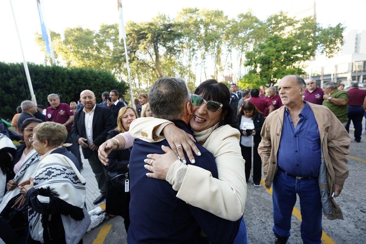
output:
[{"label": "gray asphalt ground with painted yellow lines", "polygon": [[[365,119],[363,119],[365,128]],[[324,244],[362,244],[366,243],[366,189],[361,184],[366,180],[366,135],[362,135],[361,143],[354,141],[353,125],[350,127],[351,146],[348,157],[349,176],[343,191],[336,198],[344,220],[328,220],[323,216],[322,242]],[[247,202],[244,218],[249,243],[274,243],[272,189],[254,187],[252,179],[248,182]],[[291,219],[291,237],[288,244],[302,243],[300,236],[301,214],[297,200]],[[126,230],[120,216],[107,218],[101,225],[87,233],[83,242],[86,244],[125,244]]]}]

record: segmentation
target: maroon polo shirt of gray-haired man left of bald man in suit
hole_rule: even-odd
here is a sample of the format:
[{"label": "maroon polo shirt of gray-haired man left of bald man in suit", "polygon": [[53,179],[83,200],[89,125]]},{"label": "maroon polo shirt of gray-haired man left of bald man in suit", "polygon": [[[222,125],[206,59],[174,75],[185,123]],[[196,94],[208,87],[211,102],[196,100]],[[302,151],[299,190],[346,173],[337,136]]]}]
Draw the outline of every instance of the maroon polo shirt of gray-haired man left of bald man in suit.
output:
[{"label": "maroon polo shirt of gray-haired man left of bald man in suit", "polygon": [[[57,108],[52,108],[49,106],[46,108],[46,121],[52,121],[59,124],[65,124],[70,116],[73,116],[74,112],[68,104],[60,102]],[[66,129],[71,131],[72,123],[68,124]]]}]

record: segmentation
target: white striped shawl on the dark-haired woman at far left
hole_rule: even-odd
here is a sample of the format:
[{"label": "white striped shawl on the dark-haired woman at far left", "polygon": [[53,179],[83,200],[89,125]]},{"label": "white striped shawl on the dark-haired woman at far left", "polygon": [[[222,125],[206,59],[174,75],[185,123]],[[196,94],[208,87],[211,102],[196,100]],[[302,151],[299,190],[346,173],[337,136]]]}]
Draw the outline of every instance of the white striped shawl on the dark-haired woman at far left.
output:
[{"label": "white striped shawl on the dark-haired woman at far left", "polygon": [[[24,162],[20,166],[18,172],[16,172],[14,181],[19,184],[24,180],[28,180],[29,177],[33,177],[36,173],[38,163],[40,162],[40,157],[41,154],[38,154],[36,150],[31,150],[25,157]],[[5,194],[3,201],[0,204],[0,213],[4,210],[8,202],[16,195],[19,195],[19,193],[19,188],[16,187],[14,190],[8,191]]]}]

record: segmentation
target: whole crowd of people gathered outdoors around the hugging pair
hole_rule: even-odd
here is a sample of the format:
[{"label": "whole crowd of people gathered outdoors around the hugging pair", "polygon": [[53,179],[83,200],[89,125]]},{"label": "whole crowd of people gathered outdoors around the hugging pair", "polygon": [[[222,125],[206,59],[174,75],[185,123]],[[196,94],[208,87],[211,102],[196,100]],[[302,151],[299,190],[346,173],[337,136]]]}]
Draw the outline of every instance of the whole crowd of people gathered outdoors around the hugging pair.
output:
[{"label": "whole crowd of people gathered outdoors around the hugging pair", "polygon": [[214,79],[190,94],[183,79],[164,77],[133,106],[117,90],[101,103],[90,90],[70,105],[55,93],[47,108],[23,101],[14,131],[0,125],[0,238],[82,243],[80,146],[100,191],[93,203],[106,199],[105,211],[123,217],[128,243],[247,243],[251,175],[254,187],[273,187],[275,243],[290,237],[296,194],[304,243],[321,243],[322,213],[343,218],[333,197],[348,176],[351,120],[355,141],[363,134],[366,91],[343,87],[292,75],[278,94]]}]

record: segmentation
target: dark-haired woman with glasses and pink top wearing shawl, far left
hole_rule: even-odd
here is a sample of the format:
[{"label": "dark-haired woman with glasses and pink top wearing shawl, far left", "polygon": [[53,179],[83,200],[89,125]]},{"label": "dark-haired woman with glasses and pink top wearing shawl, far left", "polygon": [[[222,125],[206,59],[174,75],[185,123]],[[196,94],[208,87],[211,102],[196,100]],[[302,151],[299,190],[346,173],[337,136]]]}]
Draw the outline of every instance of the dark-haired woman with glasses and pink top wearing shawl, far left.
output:
[{"label": "dark-haired woman with glasses and pink top wearing shawl, far left", "polygon": [[33,139],[33,129],[42,120],[36,118],[25,119],[21,125],[20,134],[25,143],[17,146],[13,159],[13,176],[6,184],[7,192],[0,204],[0,216],[15,231],[19,243],[26,243],[28,227],[28,205],[26,198],[19,192],[18,183],[33,177],[36,173],[41,155],[32,147],[29,140]]}]

